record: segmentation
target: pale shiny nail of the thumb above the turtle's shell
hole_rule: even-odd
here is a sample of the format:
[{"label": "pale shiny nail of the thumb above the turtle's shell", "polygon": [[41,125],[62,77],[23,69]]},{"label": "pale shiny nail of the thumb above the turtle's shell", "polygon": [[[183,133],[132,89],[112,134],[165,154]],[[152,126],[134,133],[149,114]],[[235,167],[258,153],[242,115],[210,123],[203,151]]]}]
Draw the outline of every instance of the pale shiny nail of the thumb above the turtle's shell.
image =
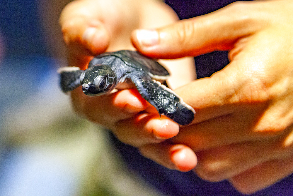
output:
[{"label": "pale shiny nail of the thumb above the turtle's shell", "polygon": [[159,34],[155,30],[136,30],[136,38],[138,42],[146,47],[154,46],[159,43]]}]

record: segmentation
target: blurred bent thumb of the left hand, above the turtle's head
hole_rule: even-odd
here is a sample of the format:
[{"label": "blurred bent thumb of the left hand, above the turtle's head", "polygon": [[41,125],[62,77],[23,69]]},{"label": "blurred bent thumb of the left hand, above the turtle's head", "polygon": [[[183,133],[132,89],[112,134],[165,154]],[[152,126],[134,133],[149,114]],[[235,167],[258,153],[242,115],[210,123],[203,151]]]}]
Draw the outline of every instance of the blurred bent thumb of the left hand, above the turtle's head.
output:
[{"label": "blurred bent thumb of the left hand, above the turtle's head", "polygon": [[60,14],[59,24],[70,66],[85,68],[90,56],[104,52],[109,45],[109,33],[94,8],[84,1],[72,1]]}]

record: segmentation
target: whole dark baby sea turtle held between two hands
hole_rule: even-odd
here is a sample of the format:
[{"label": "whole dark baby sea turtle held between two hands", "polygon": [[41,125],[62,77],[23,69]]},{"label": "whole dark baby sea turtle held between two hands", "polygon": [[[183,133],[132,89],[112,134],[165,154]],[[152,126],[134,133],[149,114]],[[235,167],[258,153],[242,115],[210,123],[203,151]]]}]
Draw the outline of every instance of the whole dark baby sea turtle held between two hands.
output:
[{"label": "whole dark baby sea turtle held between two hands", "polygon": [[64,67],[59,69],[59,74],[63,92],[82,86],[86,95],[98,96],[114,88],[135,86],[160,115],[164,114],[180,125],[187,125],[194,118],[195,111],[191,106],[156,81],[165,81],[169,76],[168,71],[157,61],[136,51],[106,52],[93,58],[86,70]]}]

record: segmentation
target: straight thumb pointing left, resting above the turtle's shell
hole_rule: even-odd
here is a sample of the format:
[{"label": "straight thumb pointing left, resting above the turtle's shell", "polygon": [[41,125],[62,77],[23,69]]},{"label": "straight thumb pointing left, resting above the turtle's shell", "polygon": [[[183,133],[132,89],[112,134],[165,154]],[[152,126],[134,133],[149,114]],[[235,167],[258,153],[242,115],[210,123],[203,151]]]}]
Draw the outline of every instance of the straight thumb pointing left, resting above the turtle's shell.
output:
[{"label": "straight thumb pointing left, resting above the turtle's shell", "polygon": [[198,56],[215,50],[229,50],[237,39],[260,26],[242,4],[231,4],[218,11],[178,21],[159,29],[139,29],[132,43],[153,58]]}]

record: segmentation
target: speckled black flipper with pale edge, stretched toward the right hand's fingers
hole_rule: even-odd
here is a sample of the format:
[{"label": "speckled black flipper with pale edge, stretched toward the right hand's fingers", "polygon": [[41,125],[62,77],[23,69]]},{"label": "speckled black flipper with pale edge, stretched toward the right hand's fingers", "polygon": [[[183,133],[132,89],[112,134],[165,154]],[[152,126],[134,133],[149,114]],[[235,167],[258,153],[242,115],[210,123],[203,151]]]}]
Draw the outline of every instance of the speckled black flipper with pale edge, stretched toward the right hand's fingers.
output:
[{"label": "speckled black flipper with pale edge, stretched toward the right hand's fingers", "polygon": [[153,105],[159,114],[164,114],[180,125],[188,125],[192,122],[194,109],[183,102],[170,88],[145,75],[132,74],[130,78],[141,96]]}]

